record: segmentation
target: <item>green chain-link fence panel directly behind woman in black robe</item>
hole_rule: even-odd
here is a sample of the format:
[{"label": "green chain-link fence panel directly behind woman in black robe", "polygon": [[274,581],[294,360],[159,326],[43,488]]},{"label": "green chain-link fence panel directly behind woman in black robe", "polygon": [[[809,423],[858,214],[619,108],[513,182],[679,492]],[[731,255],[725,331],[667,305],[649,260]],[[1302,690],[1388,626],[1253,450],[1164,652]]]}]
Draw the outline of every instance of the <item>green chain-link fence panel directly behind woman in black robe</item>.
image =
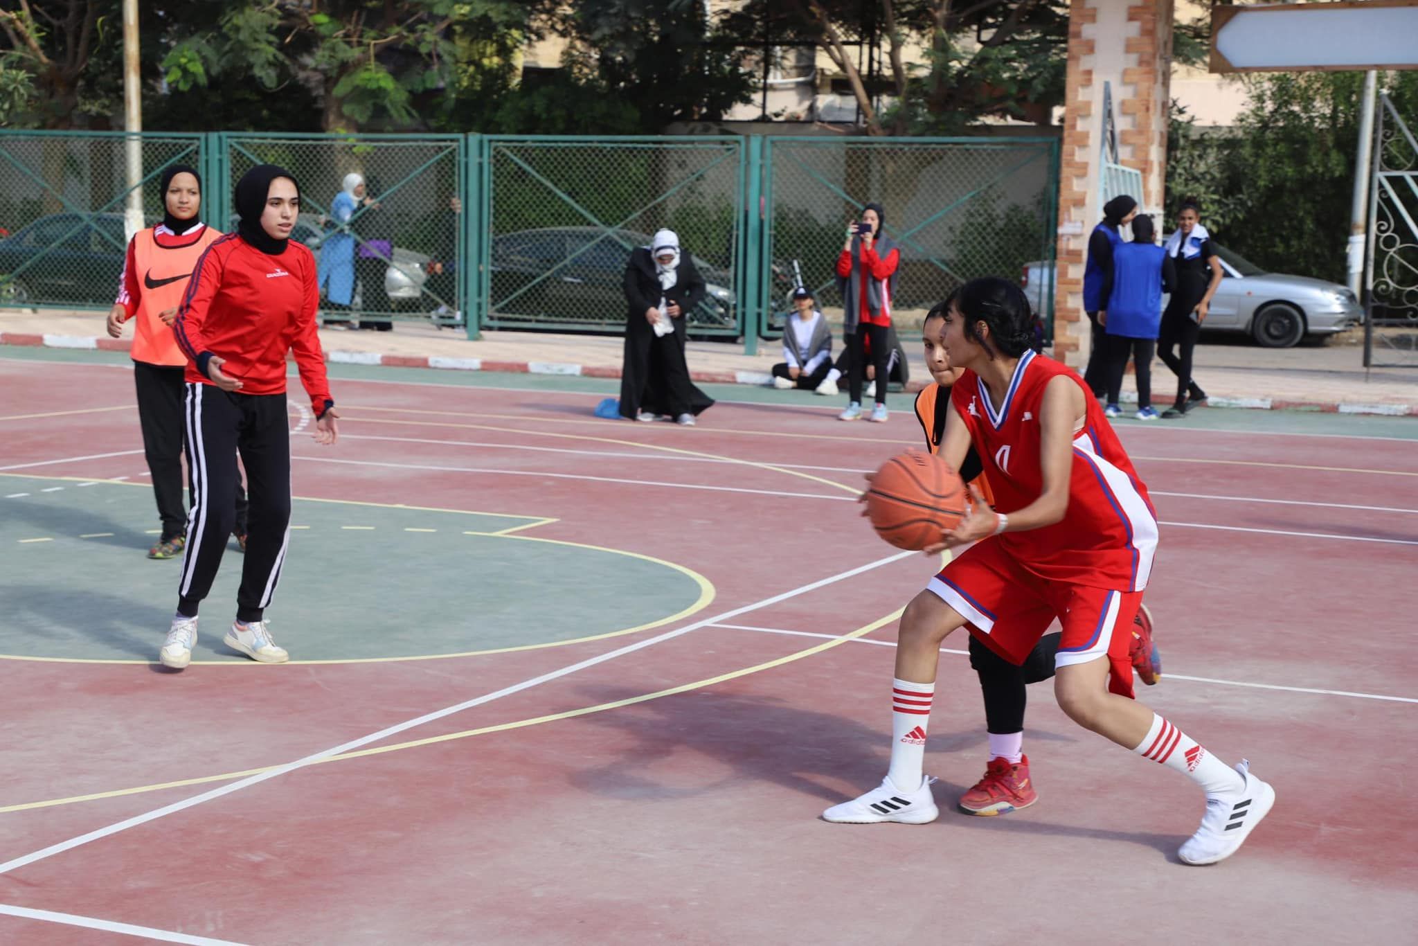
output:
[{"label": "green chain-link fence panel directly behind woman in black robe", "polygon": [[618,329],[630,252],[669,227],[709,288],[691,330],[740,333],[742,139],[489,136],[482,149],[484,328]]}]

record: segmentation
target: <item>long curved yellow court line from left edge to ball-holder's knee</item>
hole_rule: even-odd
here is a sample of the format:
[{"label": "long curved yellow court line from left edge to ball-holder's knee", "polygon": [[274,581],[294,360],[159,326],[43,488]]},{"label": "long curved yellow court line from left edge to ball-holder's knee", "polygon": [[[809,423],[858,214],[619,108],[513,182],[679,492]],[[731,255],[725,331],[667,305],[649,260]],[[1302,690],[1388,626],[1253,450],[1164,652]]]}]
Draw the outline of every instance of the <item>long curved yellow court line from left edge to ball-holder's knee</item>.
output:
[{"label": "long curved yellow court line from left edge to ball-holder's knee", "polygon": [[[485,736],[495,732],[506,732],[509,729],[523,729],[526,726],[537,726],[542,723],[557,722],[562,719],[574,719],[577,716],[590,716],[591,713],[601,713],[610,709],[620,709],[623,706],[632,706],[635,703],[649,702],[652,699],[661,699],[664,696],[675,696],[678,694],[686,694],[693,689],[703,689],[705,686],[713,686],[715,684],[722,684],[730,679],[737,679],[740,677],[749,677],[750,674],[757,674],[760,671],[773,669],[774,667],[783,667],[784,664],[791,664],[794,661],[813,657],[814,654],[821,654],[822,651],[839,647],[848,641],[854,641],[859,637],[865,637],[872,631],[891,624],[898,617],[902,616],[905,608],[898,608],[885,617],[879,617],[871,624],[865,624],[855,631],[848,631],[841,637],[835,637],[830,641],[822,641],[805,650],[788,654],[787,657],[778,657],[777,660],[764,661],[761,664],[754,664],[753,667],[744,667],[743,669],[729,671],[727,674],[719,674],[718,677],[709,677],[706,679],[698,679],[692,684],[682,684],[679,686],[671,686],[669,689],[659,689],[652,694],[644,694],[641,696],[630,696],[627,699],[615,699],[608,703],[597,703],[594,706],[583,706],[580,709],[569,709],[560,713],[550,713],[546,716],[533,716],[530,719],[518,719],[515,722],[498,723],[495,726],[481,726],[478,729],[464,729],[462,732],[451,732],[442,736],[430,736],[427,739],[414,739],[410,742],[393,743],[389,746],[376,746],[374,749],[360,749],[356,752],[346,752],[339,756],[328,756],[325,759],[318,759],[311,764],[323,764],[326,762],[345,762],[349,759],[362,759],[364,756],[379,756],[389,752],[401,752],[404,749],[417,749],[420,746],[432,746],[441,742],[452,742],[455,739],[469,739],[472,736]],[[282,763],[284,764],[284,763]],[[247,769],[244,772],[224,772],[217,776],[201,776],[199,779],[182,779],[179,781],[163,781],[159,784],[136,786],[133,789],[116,789],[113,791],[96,791],[94,794],[71,796],[68,798],[50,798],[47,801],[27,801],[23,804],[11,804],[0,807],[0,814],[10,811],[28,811],[31,808],[52,808],[62,804],[77,804],[79,801],[98,801],[102,798],[118,798],[132,794],[143,794],[147,791],[162,791],[163,789],[182,789],[186,786],[207,784],[211,781],[230,781],[233,779],[245,779],[250,776],[261,774],[262,772],[271,772],[279,766],[264,766],[261,769]]]}]

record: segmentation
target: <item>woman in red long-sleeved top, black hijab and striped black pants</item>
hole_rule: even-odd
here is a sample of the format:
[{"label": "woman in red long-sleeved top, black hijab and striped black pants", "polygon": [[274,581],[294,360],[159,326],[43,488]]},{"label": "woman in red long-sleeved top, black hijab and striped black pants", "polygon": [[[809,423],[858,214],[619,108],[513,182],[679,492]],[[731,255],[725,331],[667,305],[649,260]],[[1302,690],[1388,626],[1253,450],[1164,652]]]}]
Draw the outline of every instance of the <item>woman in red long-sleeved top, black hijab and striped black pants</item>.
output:
[{"label": "woman in red long-sleeved top, black hijab and striped black pants", "polygon": [[196,495],[187,518],[187,550],[177,614],[159,654],[167,667],[191,661],[197,607],[211,590],[231,533],[235,465],[247,469],[247,557],[237,590],[237,620],[225,644],[264,664],[289,655],[271,640],[264,608],[285,559],[291,521],[291,435],[285,357],[295,353],[301,383],[315,411],[315,440],[337,437],[335,400],[316,335],[316,265],[289,243],[301,210],[295,177],[272,165],[252,167],[237,183],[241,223],[213,243],[191,275],[173,332],[187,356],[187,465]]}]

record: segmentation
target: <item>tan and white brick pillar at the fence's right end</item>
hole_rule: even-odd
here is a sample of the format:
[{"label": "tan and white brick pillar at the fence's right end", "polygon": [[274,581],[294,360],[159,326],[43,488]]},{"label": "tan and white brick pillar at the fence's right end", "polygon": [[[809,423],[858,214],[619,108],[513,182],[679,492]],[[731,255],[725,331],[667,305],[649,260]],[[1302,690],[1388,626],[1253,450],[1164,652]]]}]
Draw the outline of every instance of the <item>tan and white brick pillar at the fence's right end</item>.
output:
[{"label": "tan and white brick pillar at the fence's right end", "polygon": [[[1143,173],[1140,213],[1161,210],[1167,165],[1173,0],[1072,0],[1059,180],[1054,353],[1082,369],[1083,255],[1100,218],[1103,82],[1113,91],[1119,160]],[[1159,220],[1159,223],[1161,223]]]}]

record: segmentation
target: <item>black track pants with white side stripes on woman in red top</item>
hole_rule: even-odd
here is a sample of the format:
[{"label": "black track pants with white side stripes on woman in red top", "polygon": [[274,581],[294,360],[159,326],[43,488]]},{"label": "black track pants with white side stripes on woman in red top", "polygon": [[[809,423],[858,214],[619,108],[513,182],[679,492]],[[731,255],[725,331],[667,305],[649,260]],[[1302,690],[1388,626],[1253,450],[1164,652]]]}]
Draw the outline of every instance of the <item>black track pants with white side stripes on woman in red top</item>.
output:
[{"label": "black track pants with white side stripes on woman in red top", "polygon": [[177,613],[196,617],[217,577],[235,518],[237,464],[231,458],[240,450],[251,494],[237,620],[259,621],[281,577],[289,536],[291,421],[285,394],[241,394],[189,383],[186,411],[193,498]]}]

